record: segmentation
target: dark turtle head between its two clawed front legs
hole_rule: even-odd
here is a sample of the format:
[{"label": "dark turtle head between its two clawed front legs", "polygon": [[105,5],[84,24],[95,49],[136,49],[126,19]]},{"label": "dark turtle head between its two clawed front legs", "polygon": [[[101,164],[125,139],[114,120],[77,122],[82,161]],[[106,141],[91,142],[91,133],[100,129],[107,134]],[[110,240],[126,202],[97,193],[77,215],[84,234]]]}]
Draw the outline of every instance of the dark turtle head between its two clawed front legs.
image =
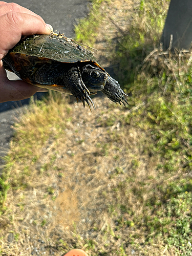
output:
[{"label": "dark turtle head between its two clawed front legs", "polygon": [[90,92],[103,90],[108,74],[97,67],[87,65],[83,68],[81,78]]}]

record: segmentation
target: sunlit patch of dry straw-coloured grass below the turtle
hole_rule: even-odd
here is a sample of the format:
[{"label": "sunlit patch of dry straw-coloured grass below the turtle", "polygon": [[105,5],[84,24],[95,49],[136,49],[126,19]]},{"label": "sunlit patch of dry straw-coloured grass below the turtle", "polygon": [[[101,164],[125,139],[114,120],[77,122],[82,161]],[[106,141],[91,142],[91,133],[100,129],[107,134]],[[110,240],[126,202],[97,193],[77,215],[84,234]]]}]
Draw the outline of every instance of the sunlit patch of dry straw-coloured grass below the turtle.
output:
[{"label": "sunlit patch of dry straw-coloured grass below the turtle", "polygon": [[[63,101],[42,104],[41,109],[33,104],[16,127],[1,249],[4,255],[30,255],[42,239],[49,255],[74,246],[93,255],[116,255],[123,246],[132,255],[133,234],[138,245],[146,236],[137,218],[146,210],[152,188],[161,183],[154,168],[159,159],[145,148],[150,138],[126,124],[130,111],[106,98],[94,99],[93,113]],[[119,218],[122,226],[117,228]],[[15,237],[11,244],[10,232]],[[135,255],[155,251],[154,246],[138,249]]]}]

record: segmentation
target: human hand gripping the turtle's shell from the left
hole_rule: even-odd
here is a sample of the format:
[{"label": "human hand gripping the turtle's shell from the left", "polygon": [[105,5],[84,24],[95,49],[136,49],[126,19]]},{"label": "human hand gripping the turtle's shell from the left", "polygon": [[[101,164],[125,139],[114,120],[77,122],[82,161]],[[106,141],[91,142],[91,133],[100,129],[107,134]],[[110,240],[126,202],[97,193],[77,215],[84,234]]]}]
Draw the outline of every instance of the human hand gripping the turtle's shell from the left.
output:
[{"label": "human hand gripping the turtle's shell from the left", "polygon": [[53,28],[34,12],[15,3],[1,1],[0,24],[0,102],[27,99],[36,92],[45,91],[22,80],[9,80],[2,58],[22,35],[50,34]]}]

